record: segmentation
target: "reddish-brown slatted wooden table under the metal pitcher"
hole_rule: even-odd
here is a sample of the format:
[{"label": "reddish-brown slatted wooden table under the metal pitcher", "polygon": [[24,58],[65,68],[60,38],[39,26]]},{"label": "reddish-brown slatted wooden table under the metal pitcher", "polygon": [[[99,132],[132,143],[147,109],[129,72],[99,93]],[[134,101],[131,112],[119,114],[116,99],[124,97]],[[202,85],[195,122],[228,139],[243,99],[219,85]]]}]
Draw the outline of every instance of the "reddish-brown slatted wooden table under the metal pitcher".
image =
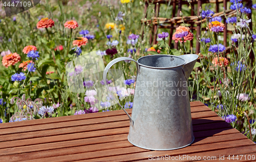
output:
[{"label": "reddish-brown slatted wooden table under the metal pitcher", "polygon": [[[202,102],[190,104],[196,139],[182,149],[151,151],[133,146],[127,141],[129,119],[120,110],[0,124],[0,161],[153,161],[165,155],[171,159],[165,161],[196,161],[204,156],[217,158],[207,161],[256,161],[252,141]],[[237,160],[236,155],[243,156]]]}]

